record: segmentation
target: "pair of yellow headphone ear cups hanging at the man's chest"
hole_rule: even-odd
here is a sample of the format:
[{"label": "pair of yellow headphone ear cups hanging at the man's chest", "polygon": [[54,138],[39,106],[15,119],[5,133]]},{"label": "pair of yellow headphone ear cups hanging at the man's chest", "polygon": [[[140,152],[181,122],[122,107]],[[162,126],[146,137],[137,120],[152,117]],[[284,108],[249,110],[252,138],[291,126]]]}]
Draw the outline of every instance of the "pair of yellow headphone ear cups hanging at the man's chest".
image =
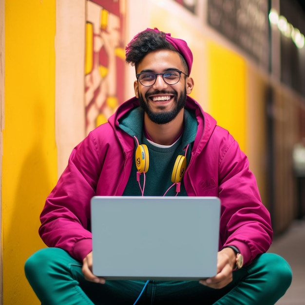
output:
[{"label": "pair of yellow headphone ear cups hanging at the man's chest", "polygon": [[[139,144],[135,150],[135,166],[138,172],[147,172],[149,169],[149,152],[147,145]],[[182,180],[187,168],[187,158],[179,154],[172,169],[172,183]]]}]

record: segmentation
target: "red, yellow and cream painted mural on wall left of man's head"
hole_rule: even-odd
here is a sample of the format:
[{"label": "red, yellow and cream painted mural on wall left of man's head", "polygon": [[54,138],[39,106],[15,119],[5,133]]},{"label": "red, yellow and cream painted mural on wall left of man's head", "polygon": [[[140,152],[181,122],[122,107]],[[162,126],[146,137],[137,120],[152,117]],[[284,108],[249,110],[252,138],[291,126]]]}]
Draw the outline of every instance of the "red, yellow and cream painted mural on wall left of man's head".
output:
[{"label": "red, yellow and cream painted mural on wall left of man's head", "polygon": [[86,134],[124,101],[125,0],[87,0]]}]

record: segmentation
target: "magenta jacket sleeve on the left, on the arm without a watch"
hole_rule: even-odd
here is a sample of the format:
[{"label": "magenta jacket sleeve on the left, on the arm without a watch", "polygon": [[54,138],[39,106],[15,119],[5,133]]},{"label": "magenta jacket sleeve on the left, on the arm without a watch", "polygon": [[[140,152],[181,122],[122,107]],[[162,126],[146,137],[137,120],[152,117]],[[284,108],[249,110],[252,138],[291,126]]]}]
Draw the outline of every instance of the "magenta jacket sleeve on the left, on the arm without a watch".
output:
[{"label": "magenta jacket sleeve on the left, on the arm without a watch", "polygon": [[90,200],[100,171],[100,157],[89,134],[71,153],[40,214],[39,235],[44,243],[66,250],[78,261],[92,250]]}]

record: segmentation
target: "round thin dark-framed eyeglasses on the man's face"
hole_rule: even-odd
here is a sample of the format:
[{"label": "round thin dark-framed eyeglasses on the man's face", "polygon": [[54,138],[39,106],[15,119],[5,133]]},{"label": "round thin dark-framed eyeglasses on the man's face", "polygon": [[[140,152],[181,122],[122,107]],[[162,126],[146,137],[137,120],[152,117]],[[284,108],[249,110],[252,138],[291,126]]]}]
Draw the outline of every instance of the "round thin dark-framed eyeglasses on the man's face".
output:
[{"label": "round thin dark-framed eyeglasses on the man's face", "polygon": [[182,71],[179,70],[170,70],[166,71],[164,73],[152,73],[152,72],[142,72],[136,74],[136,78],[139,80],[139,82],[146,87],[152,86],[157,79],[158,75],[162,75],[163,80],[168,84],[168,85],[174,85],[180,80],[181,73],[184,75],[188,76]]}]

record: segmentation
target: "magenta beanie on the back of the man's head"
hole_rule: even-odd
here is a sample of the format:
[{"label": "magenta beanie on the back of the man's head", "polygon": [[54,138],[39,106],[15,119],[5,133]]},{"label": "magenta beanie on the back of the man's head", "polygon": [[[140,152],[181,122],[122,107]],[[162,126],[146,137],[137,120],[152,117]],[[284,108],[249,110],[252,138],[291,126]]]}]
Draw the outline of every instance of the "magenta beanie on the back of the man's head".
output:
[{"label": "magenta beanie on the back of the man's head", "polygon": [[[146,30],[138,33],[133,37],[133,39],[129,42],[129,44],[126,46],[126,55],[129,53],[129,46],[130,44],[137,39],[138,35],[146,32],[146,31],[155,31],[156,33],[159,33],[160,31],[157,28],[150,29],[147,28]],[[179,39],[179,38],[173,38],[170,33],[164,33],[165,34],[165,39],[170,42],[173,47],[184,57],[185,61],[187,62],[187,65],[189,67],[189,74],[191,73],[191,65],[193,62],[193,55],[191,53],[191,49],[189,48],[188,44],[186,41]]]}]

